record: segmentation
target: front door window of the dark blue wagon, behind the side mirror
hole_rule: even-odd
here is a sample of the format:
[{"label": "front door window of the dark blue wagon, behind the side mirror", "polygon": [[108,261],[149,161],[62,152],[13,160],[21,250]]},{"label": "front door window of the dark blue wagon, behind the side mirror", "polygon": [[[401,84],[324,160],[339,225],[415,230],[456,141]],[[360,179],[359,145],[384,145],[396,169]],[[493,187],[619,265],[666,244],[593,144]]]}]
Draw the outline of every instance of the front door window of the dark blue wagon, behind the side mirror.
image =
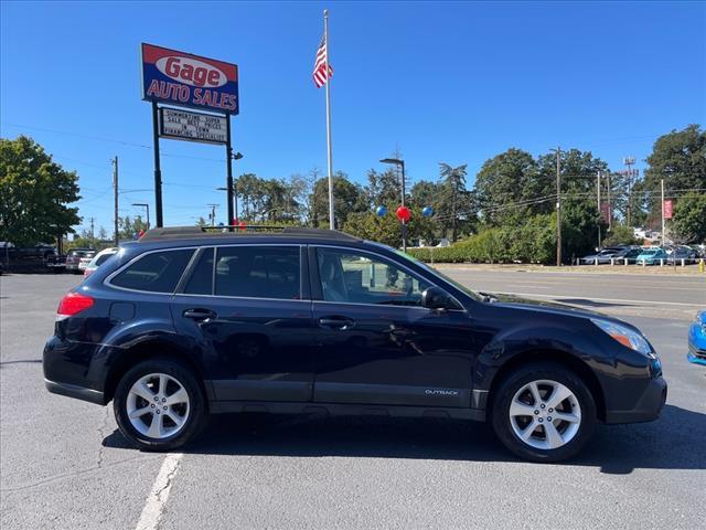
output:
[{"label": "front door window of the dark blue wagon, behind the side mirror", "polygon": [[321,292],[325,301],[421,306],[431,286],[400,266],[355,251],[318,248]]}]

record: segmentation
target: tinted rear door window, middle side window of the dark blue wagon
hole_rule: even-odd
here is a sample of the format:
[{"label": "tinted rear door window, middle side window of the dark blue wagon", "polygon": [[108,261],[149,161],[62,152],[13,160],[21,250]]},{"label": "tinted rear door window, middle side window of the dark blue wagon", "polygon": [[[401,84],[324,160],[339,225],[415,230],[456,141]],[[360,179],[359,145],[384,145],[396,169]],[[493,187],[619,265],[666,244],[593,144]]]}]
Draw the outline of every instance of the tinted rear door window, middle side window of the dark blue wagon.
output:
[{"label": "tinted rear door window, middle side window of the dark blue wagon", "polygon": [[298,246],[232,246],[218,248],[218,296],[301,298]]}]

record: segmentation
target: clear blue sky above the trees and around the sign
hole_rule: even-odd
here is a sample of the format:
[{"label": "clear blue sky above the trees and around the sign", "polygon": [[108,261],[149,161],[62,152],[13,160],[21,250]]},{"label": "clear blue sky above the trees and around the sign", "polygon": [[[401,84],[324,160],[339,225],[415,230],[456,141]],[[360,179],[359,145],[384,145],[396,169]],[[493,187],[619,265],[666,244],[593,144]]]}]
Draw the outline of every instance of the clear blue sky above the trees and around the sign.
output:
[{"label": "clear blue sky above the trees and around the sign", "polygon": [[[363,182],[398,148],[411,181],[517,147],[591,150],[638,168],[654,139],[706,125],[704,2],[1,3],[0,132],[26,134],[81,176],[81,214],[110,232],[109,159],[122,215],[153,204],[151,114],[139,43],[239,65],[236,174],[325,168],[324,93],[311,81],[331,12],[334,169]],[[142,147],[140,147],[142,146]],[[162,140],[164,222],[225,197],[220,146]]]}]

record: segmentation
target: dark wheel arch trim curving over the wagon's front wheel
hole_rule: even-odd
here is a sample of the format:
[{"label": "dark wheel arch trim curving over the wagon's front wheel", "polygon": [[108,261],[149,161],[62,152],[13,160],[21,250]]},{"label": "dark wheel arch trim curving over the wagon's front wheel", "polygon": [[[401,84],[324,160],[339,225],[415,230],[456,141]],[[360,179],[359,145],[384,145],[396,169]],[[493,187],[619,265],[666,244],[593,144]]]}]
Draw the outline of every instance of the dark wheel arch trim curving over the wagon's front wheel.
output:
[{"label": "dark wheel arch trim curving over the wagon's front wheel", "polygon": [[588,364],[586,364],[580,359],[574,357],[570,353],[566,353],[564,351],[556,350],[532,350],[523,353],[517,353],[509,359],[503,365],[500,367],[495,375],[493,377],[493,381],[491,383],[488,407],[492,407],[495,392],[500,388],[501,383],[507,378],[510,373],[512,373],[515,369],[534,363],[534,362],[553,362],[555,364],[559,364],[568,370],[571,370],[576,373],[581,380],[586,383],[588,389],[593,396],[593,401],[596,402],[596,413],[598,418],[605,421],[606,418],[606,400],[603,398],[603,391],[601,389],[600,383],[598,382],[598,378],[590,369]]}]

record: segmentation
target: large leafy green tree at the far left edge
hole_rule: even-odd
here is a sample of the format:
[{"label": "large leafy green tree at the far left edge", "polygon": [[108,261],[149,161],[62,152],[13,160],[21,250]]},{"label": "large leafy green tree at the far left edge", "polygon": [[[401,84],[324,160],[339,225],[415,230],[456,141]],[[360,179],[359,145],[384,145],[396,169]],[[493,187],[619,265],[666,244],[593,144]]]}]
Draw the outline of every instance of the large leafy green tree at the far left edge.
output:
[{"label": "large leafy green tree at the far left edge", "polygon": [[75,233],[78,176],[65,171],[31,138],[0,139],[0,241],[17,246]]}]

